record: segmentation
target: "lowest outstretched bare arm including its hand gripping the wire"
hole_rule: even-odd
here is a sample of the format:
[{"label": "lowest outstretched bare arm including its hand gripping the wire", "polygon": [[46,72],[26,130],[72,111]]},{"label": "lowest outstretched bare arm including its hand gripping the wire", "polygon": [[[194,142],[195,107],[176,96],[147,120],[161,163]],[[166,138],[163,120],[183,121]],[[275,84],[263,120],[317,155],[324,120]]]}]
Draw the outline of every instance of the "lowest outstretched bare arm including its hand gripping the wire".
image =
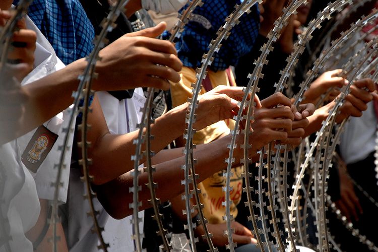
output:
[{"label": "lowest outstretched bare arm including its hand gripping the wire", "polygon": [[[273,95],[263,103],[268,108],[275,107],[277,104],[291,105],[290,100],[282,94]],[[291,121],[294,119],[291,108],[289,106],[268,108],[259,109],[259,113],[255,114],[256,121],[253,125],[255,132],[250,137],[253,149],[250,149],[249,153],[250,158],[253,160],[258,158],[256,150],[260,150],[264,145],[273,140],[285,141],[287,139],[287,132],[291,131]],[[282,117],[286,119],[281,119]],[[276,131],[275,129],[277,128],[284,128],[284,131]],[[234,165],[238,165],[242,157],[240,149],[242,139],[243,137],[240,134],[237,141],[238,147],[234,150]],[[199,174],[198,182],[226,168],[224,161],[229,154],[227,145],[230,143],[230,140],[231,135],[228,135],[211,143],[197,146],[194,150],[194,158],[197,159],[196,172]],[[183,192],[183,186],[181,185],[181,180],[183,179],[181,165],[184,163],[185,159],[181,156],[155,165],[156,173],[154,173],[154,181],[159,184],[156,192],[161,201],[166,201]],[[147,203],[150,197],[149,190],[145,185],[147,180],[147,173],[142,173],[139,177],[139,184],[142,186],[142,191],[139,194],[139,199],[142,201],[141,210],[150,207],[149,203]],[[128,172],[106,184],[95,186],[98,199],[106,211],[114,218],[123,218],[132,213],[132,209],[129,208],[129,203],[132,202],[133,197],[133,194],[129,193],[129,187],[132,184],[133,177]]]}]

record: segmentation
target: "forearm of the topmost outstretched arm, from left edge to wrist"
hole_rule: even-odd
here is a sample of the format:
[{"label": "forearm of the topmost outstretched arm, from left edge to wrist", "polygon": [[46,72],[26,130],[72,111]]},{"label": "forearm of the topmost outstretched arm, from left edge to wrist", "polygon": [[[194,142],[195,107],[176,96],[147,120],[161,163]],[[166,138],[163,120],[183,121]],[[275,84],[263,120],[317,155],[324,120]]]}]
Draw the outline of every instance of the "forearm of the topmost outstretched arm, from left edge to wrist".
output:
[{"label": "forearm of the topmost outstretched arm, from left edge to wrist", "polygon": [[[83,64],[78,61],[72,66],[21,87],[17,92],[9,92],[4,99],[11,99],[10,105],[5,103],[1,109],[8,114],[2,122],[3,134],[0,142],[6,143],[26,134],[70,106],[73,102],[72,91],[77,89],[78,76],[82,69]],[[2,93],[2,97],[7,95],[6,93],[7,91]],[[12,103],[16,102],[17,106],[21,107],[22,104],[22,110],[14,105],[12,107]]]}]

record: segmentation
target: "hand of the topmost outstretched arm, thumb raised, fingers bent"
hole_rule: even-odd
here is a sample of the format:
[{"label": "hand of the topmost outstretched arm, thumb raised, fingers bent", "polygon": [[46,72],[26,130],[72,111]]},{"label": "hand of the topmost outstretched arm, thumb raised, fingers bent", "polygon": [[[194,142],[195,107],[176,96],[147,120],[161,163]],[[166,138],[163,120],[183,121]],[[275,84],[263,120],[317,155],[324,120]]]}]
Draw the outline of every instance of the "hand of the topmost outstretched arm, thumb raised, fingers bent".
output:
[{"label": "hand of the topmost outstretched arm, thumb raised, fingers bent", "polygon": [[169,83],[178,82],[182,62],[174,45],[159,40],[165,30],[164,22],[153,28],[123,35],[103,48],[97,61],[98,78],[95,90],[122,90],[135,87],[169,89]]}]

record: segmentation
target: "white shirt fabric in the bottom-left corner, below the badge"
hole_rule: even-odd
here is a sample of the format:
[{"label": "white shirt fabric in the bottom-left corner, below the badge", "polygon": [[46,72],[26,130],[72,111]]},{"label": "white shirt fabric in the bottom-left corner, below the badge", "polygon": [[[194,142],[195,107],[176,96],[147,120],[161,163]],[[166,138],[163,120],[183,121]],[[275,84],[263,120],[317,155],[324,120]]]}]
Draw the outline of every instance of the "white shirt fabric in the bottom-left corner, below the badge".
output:
[{"label": "white shirt fabric in the bottom-left corner, below the badge", "polygon": [[[16,141],[0,146],[0,237],[11,240],[0,244],[0,252],[32,252],[25,237],[39,216],[40,205],[33,177],[21,162]],[[5,232],[5,234],[3,233]]]}]

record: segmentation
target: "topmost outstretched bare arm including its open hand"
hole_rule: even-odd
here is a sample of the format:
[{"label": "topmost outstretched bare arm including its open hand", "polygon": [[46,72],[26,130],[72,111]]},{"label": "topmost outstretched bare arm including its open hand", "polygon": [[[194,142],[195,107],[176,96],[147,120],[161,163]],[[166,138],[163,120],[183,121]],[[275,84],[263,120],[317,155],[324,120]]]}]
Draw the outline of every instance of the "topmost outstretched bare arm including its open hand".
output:
[{"label": "topmost outstretched bare arm including its open hand", "polygon": [[[168,89],[166,80],[178,81],[177,71],[180,71],[182,64],[174,46],[168,41],[153,38],[164,29],[165,24],[161,23],[154,28],[124,35],[102,49],[101,61],[96,64],[98,78],[93,80],[92,88],[111,91],[146,84]],[[13,67],[15,69],[7,69],[2,75],[2,82],[11,83],[12,77],[26,67],[22,64]],[[72,104],[72,92],[77,89],[78,77],[85,67],[85,59],[79,59],[26,86],[14,84],[2,88],[0,112],[4,116],[0,122],[4,134],[0,136],[0,144],[36,128]]]}]

